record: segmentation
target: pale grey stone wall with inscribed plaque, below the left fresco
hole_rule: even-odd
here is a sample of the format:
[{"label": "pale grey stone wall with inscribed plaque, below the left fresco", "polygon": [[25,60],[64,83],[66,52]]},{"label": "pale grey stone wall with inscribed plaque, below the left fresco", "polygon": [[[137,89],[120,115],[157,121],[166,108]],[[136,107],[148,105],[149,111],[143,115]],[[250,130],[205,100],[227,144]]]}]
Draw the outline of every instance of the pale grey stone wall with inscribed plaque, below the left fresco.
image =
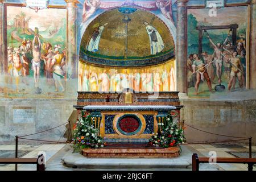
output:
[{"label": "pale grey stone wall with inscribed plaque, below the left fresco", "polygon": [[[76,118],[73,113],[76,100],[62,99],[1,99],[0,100],[0,144],[13,143],[15,135],[37,133],[61,125]],[[76,113],[76,112],[74,112]],[[46,133],[27,138],[65,141],[65,125]],[[62,137],[62,138],[61,138]],[[19,140],[19,143],[35,143],[30,140]]]}]

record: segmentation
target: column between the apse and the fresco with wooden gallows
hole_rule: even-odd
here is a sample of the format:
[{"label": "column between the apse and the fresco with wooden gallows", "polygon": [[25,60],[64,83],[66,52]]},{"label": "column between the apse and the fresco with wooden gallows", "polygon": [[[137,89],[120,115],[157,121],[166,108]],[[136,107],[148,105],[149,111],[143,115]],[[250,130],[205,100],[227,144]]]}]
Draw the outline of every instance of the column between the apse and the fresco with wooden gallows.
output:
[{"label": "column between the apse and the fresco with wooden gallows", "polygon": [[177,0],[177,91],[187,95],[187,2],[188,0]]}]

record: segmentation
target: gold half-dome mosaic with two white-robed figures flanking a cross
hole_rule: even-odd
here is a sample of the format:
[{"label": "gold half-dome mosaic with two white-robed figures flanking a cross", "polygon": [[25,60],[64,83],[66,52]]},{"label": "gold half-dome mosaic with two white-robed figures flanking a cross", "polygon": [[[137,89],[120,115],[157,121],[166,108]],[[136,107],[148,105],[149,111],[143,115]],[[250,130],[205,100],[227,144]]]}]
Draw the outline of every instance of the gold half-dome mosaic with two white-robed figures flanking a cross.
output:
[{"label": "gold half-dome mosaic with two white-robed figures flanking a cross", "polygon": [[154,65],[174,56],[174,40],[166,24],[154,14],[130,7],[94,19],[80,46],[80,59],[101,65]]}]

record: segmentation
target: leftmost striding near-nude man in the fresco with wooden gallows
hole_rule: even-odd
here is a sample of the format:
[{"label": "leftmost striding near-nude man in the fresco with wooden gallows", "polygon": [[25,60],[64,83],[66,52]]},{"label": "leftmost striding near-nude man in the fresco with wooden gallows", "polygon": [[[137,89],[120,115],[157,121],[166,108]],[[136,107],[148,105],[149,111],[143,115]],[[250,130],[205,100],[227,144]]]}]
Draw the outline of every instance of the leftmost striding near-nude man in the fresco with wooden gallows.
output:
[{"label": "leftmost striding near-nude man in the fresco with wooden gallows", "polygon": [[210,78],[206,71],[204,62],[198,57],[197,54],[193,55],[193,59],[194,61],[193,61],[192,68],[193,68],[193,74],[196,74],[196,85],[195,85],[196,95],[198,94],[200,80],[204,80],[204,78],[207,80],[207,85],[210,92],[212,92],[212,82],[210,82]]}]

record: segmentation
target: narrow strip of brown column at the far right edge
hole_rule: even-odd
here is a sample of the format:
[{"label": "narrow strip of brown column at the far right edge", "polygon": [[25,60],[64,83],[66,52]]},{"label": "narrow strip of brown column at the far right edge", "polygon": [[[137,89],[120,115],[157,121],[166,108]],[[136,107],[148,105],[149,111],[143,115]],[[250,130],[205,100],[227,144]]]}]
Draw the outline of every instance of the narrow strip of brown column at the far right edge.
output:
[{"label": "narrow strip of brown column at the far right edge", "polygon": [[249,88],[256,89],[256,0],[250,5]]}]

